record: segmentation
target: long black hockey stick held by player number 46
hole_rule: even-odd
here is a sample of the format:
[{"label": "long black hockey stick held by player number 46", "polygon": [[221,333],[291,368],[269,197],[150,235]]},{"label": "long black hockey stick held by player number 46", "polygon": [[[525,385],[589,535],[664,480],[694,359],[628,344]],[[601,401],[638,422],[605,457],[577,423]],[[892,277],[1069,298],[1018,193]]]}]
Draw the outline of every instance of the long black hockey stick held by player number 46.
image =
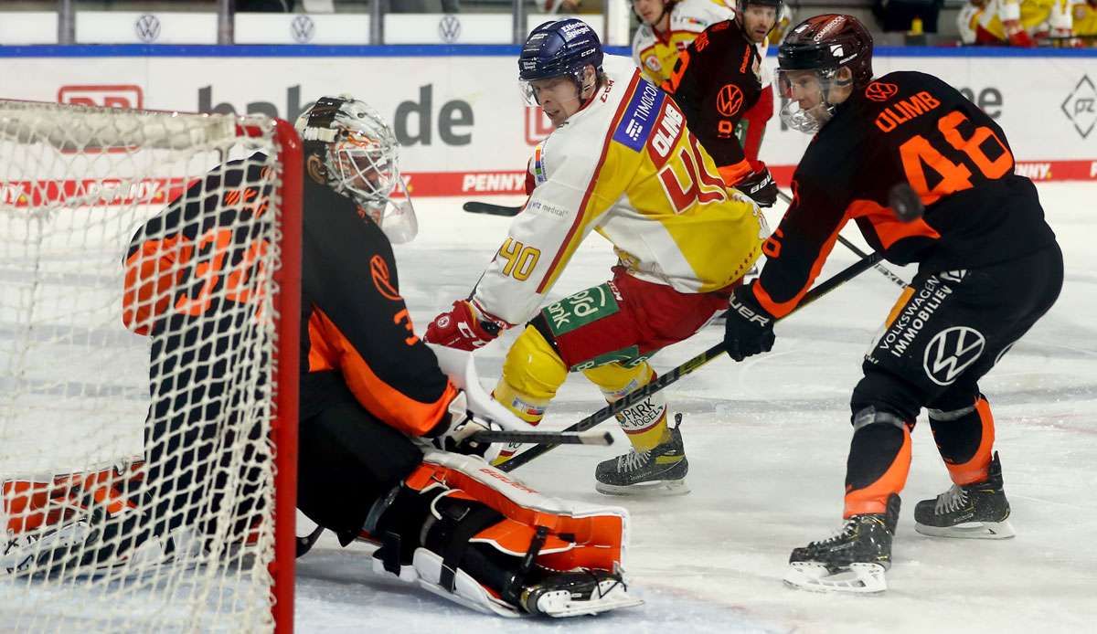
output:
[{"label": "long black hockey stick held by player number 46", "polygon": [[[812,304],[813,302],[817,301],[819,297],[826,295],[830,291],[834,291],[838,286],[841,286],[846,282],[848,282],[848,281],[852,280],[853,278],[860,275],[864,271],[867,271],[870,268],[872,268],[872,265],[875,264],[877,262],[879,262],[880,259],[881,259],[880,253],[871,253],[868,257],[862,258],[860,261],[855,262],[853,264],[850,264],[849,267],[847,267],[842,271],[836,273],[829,280],[823,282],[822,284],[819,284],[819,285],[815,286],[814,288],[812,288],[811,291],[808,291],[807,294],[805,294],[804,297],[800,301],[800,304],[796,305],[796,307],[789,315],[795,314],[798,310],[800,310],[804,306],[806,306],[808,304]],[[780,321],[780,319],[778,319],[778,321]],[[693,359],[690,359],[686,363],[682,363],[678,367],[675,367],[670,372],[660,375],[655,381],[648,383],[644,387],[642,387],[640,389],[636,389],[634,392],[629,393],[623,398],[621,398],[619,400],[615,400],[615,401],[611,403],[610,405],[607,405],[606,407],[603,407],[603,408],[599,409],[598,411],[591,414],[587,418],[584,418],[579,422],[576,422],[575,424],[573,424],[573,426],[564,429],[564,431],[565,432],[587,431],[588,429],[590,429],[590,428],[599,424],[603,420],[607,420],[610,417],[615,416],[620,411],[622,411],[622,410],[624,410],[624,409],[626,409],[629,407],[632,407],[633,405],[636,405],[637,403],[644,400],[648,396],[655,394],[656,392],[663,389],[664,387],[670,385],[671,383],[677,382],[682,376],[686,376],[687,374],[695,371],[697,369],[701,367],[705,363],[709,363],[713,359],[716,359],[717,356],[723,355],[724,352],[725,352],[725,350],[724,350],[724,342],[721,341],[720,343],[717,343],[717,344],[713,346],[712,348],[705,350],[704,352],[698,354]],[[528,449],[528,450],[525,450],[525,451],[523,451],[521,453],[514,454],[510,460],[508,460],[507,462],[502,463],[497,468],[499,468],[500,471],[504,471],[504,472],[511,472],[511,471],[513,471],[513,469],[522,466],[523,464],[530,462],[531,460],[540,456],[541,454],[543,454],[543,453],[545,453],[547,451],[552,451],[555,446],[557,446],[557,445],[556,444],[539,444],[536,446],[532,446],[532,448],[530,448],[530,449]]]}]

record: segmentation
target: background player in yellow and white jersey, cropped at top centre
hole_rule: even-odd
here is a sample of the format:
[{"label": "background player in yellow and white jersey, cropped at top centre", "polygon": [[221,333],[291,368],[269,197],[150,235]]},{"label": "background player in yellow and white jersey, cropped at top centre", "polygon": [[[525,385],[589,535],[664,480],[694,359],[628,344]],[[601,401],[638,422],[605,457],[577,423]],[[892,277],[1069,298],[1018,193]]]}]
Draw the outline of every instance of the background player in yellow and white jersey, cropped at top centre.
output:
[{"label": "background player in yellow and white jersey, cropped at top centre", "polygon": [[660,86],[670,79],[678,54],[710,24],[735,16],[721,0],[630,0],[640,19],[632,36],[632,58],[644,77]]}]

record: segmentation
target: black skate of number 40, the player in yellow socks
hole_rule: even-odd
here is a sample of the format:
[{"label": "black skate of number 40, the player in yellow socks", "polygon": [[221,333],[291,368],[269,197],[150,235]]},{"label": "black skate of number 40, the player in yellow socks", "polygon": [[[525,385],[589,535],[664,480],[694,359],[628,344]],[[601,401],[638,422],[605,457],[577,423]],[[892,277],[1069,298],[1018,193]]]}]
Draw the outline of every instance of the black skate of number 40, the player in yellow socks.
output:
[{"label": "black skate of number 40, the player in yellow socks", "polygon": [[681,415],[675,416],[670,440],[649,451],[631,450],[603,461],[595,469],[595,489],[611,496],[681,495],[689,493],[689,461],[682,445]]}]

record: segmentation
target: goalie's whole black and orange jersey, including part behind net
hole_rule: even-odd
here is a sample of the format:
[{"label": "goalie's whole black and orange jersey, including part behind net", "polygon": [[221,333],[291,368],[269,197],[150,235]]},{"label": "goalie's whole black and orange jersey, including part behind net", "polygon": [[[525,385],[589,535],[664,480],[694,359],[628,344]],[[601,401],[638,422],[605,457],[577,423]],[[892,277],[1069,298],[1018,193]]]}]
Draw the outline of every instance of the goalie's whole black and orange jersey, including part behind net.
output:
[{"label": "goalie's whole black and orange jersey, including part behind net", "polygon": [[[168,428],[216,419],[241,386],[264,388],[251,374],[261,364],[237,361],[269,343],[241,350],[255,340],[248,325],[262,304],[245,282],[261,273],[256,253],[270,248],[262,236],[272,220],[270,185],[241,183],[269,180],[260,173],[267,162],[255,155],[217,167],[131,241],[123,321],[151,336],[150,419]],[[412,332],[387,238],[350,199],[304,181],[301,417],[349,387],[377,419],[411,435],[431,432],[448,422],[456,389]],[[177,389],[188,384],[202,394]]]}]

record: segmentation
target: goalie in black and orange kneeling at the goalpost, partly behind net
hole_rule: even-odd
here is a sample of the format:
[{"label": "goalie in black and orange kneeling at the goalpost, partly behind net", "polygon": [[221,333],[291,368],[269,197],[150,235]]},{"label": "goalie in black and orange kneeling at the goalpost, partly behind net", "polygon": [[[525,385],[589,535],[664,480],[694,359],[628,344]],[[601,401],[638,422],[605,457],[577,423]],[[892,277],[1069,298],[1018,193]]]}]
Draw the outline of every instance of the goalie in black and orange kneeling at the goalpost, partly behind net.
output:
[{"label": "goalie in black and orange kneeling at the goalpost, partly behind net", "polygon": [[[416,337],[389,244],[414,237],[415,215],[393,200],[400,176],[388,126],[361,101],[325,97],[296,127],[305,158],[298,509],[342,545],[377,543],[374,570],[488,613],[637,603],[620,571],[624,511],[548,498],[488,466],[488,445],[471,435],[486,416],[509,415],[486,394],[457,389]],[[248,254],[264,248],[272,192],[248,183],[270,182],[260,172],[275,168],[263,155],[218,166],[135,235],[123,320],[152,343],[144,482],[121,486],[134,494],[128,508],[101,509],[91,537],[44,553],[47,567],[117,562],[180,528],[247,539],[238,518],[263,503],[247,484],[259,467],[239,473],[253,461],[222,448],[233,445],[226,434],[258,438],[258,424],[234,419],[246,416],[239,390],[262,390],[270,360],[233,355],[248,344],[257,298],[230,286],[262,274]],[[226,512],[228,486],[245,501]],[[218,517],[236,525],[212,525]]]}]

